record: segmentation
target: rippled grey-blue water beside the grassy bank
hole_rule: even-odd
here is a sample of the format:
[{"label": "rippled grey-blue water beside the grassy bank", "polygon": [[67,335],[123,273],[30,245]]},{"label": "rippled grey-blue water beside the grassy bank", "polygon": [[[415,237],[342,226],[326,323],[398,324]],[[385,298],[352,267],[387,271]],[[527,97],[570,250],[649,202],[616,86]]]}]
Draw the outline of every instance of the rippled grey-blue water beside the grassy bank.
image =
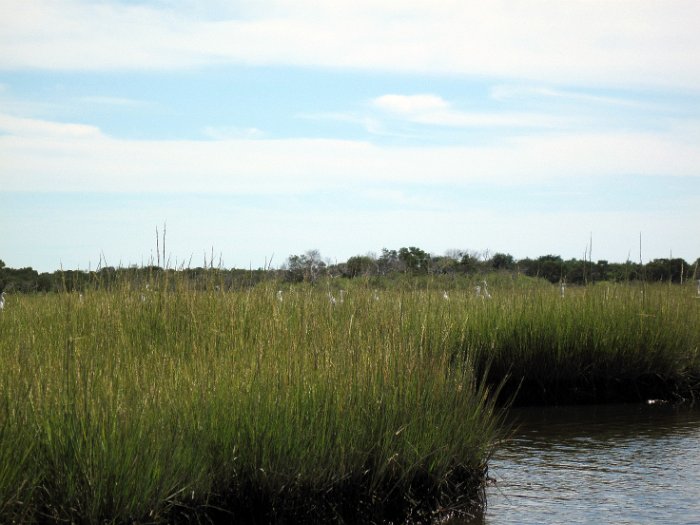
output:
[{"label": "rippled grey-blue water beside the grassy bank", "polygon": [[470,523],[700,524],[700,409],[514,409]]}]

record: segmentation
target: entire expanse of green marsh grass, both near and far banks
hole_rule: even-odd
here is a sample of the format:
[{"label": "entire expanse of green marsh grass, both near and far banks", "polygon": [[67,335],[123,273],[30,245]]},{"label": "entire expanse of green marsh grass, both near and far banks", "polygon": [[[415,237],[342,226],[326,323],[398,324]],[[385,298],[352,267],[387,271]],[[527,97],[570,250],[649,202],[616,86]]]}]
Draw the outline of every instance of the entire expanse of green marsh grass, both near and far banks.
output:
[{"label": "entire expanse of green marsh grass, both near and far banks", "polygon": [[1,521],[430,521],[483,505],[504,379],[501,403],[698,391],[689,287],[219,284],[12,298]]}]

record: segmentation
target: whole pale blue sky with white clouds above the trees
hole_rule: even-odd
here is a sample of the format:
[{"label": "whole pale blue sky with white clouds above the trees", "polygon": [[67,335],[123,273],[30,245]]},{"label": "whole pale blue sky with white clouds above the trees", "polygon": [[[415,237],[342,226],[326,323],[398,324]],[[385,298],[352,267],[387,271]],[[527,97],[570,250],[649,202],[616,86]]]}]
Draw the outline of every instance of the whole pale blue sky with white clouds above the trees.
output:
[{"label": "whole pale blue sky with white clouds above the trees", "polygon": [[700,257],[695,0],[0,10],[9,267]]}]

